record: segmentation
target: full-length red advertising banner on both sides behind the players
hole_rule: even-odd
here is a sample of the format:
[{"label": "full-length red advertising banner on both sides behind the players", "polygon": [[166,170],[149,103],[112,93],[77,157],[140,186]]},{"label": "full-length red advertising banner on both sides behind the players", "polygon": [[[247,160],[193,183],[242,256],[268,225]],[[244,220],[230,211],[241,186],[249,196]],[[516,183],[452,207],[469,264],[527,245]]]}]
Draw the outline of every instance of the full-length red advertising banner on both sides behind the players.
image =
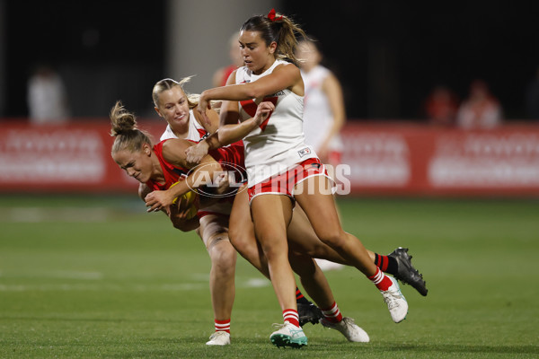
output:
[{"label": "full-length red advertising banner on both sides behind the players", "polygon": [[[157,141],[162,121],[140,121]],[[137,180],[110,158],[102,118],[65,126],[4,122],[0,192],[127,192]],[[490,131],[349,123],[341,185],[361,195],[539,196],[539,127]],[[344,188],[346,189],[346,188]]]}]

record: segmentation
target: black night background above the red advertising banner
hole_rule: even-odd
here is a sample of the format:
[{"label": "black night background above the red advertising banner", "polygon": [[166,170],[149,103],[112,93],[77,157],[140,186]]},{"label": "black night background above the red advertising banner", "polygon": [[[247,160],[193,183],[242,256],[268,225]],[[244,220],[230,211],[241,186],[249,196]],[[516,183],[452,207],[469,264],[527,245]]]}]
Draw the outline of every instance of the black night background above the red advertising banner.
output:
[{"label": "black night background above the red advertising banner", "polygon": [[[539,67],[538,3],[321,4],[283,1],[276,8],[321,41],[349,118],[421,120],[421,103],[435,85],[446,84],[462,100],[478,78],[505,118],[527,118],[526,86]],[[26,80],[40,59],[64,76],[75,117],[102,117],[101,103],[119,93],[140,110],[151,106],[147,89],[164,74],[165,2],[6,0],[4,7],[4,117],[27,115]]]}]

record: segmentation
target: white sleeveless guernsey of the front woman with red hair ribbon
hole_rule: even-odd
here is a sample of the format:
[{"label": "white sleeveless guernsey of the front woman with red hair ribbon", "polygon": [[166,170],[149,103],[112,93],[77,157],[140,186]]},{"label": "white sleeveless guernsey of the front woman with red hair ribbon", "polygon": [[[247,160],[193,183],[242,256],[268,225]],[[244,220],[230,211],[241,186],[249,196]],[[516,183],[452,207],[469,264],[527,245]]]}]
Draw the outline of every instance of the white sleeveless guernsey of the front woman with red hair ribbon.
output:
[{"label": "white sleeveless guernsey of the front woman with red hair ribbon", "polygon": [[[263,74],[252,74],[246,66],[236,71],[236,83],[252,83],[271,74],[278,65],[288,64],[276,60]],[[303,96],[282,90],[263,99],[240,101],[242,121],[252,118],[261,101],[271,101],[275,110],[270,118],[243,138],[245,168],[248,186],[252,187],[271,176],[285,171],[296,163],[316,157],[313,147],[305,144],[303,134]]]}]

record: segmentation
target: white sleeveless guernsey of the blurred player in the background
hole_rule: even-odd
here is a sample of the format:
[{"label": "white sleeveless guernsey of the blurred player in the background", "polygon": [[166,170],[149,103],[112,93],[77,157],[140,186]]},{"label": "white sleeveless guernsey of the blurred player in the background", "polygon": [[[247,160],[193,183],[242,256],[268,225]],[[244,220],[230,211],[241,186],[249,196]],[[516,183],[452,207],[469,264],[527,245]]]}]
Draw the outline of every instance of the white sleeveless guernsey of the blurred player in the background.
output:
[{"label": "white sleeveless guernsey of the blurred player in the background", "polygon": [[[324,80],[330,70],[323,66],[314,66],[308,73],[301,72],[305,83],[304,133],[305,143],[318,150],[333,125],[330,102],[322,90]],[[331,138],[329,149],[342,151],[342,140],[339,134]]]}]

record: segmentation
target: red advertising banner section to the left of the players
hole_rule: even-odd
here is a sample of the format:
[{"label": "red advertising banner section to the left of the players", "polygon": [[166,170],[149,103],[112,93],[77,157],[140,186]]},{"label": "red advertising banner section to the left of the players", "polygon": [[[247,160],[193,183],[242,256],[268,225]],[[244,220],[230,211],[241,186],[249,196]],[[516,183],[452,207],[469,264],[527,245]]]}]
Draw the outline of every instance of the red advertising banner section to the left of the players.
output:
[{"label": "red advertising banner section to the left of the players", "polygon": [[[157,121],[139,124],[157,140]],[[113,137],[102,118],[63,126],[3,123],[0,131],[1,192],[133,192],[137,180],[110,157]]]}]

